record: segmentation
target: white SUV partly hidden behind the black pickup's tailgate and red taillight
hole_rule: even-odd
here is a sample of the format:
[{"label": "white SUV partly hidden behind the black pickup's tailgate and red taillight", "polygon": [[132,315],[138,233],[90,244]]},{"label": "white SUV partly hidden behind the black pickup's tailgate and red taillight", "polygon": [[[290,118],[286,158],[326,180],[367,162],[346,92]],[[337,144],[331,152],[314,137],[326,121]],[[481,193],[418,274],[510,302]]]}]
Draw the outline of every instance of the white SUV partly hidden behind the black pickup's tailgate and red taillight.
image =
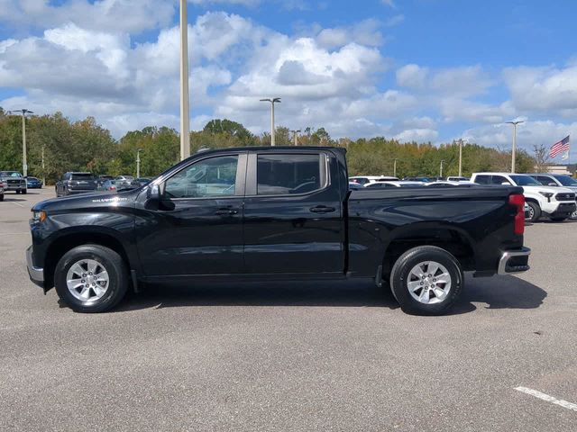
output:
[{"label": "white SUV partly hidden behind the black pickup's tailgate and red taillight", "polygon": [[548,216],[562,221],[575,211],[575,193],[565,187],[544,186],[531,175],[511,173],[473,173],[471,181],[478,184],[505,184],[521,186],[529,206],[529,219]]}]

